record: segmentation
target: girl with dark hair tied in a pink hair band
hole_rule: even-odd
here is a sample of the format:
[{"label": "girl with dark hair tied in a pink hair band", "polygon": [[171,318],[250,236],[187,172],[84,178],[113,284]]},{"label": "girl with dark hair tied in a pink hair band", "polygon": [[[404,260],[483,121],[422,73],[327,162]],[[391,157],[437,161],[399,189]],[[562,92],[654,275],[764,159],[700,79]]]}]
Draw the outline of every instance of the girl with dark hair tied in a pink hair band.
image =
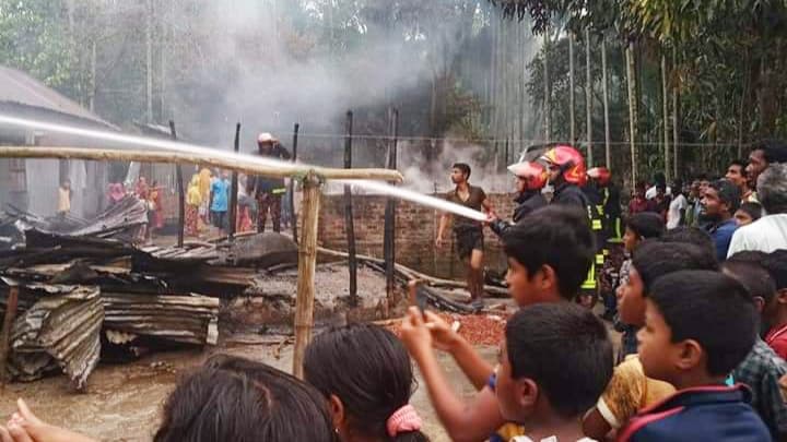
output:
[{"label": "girl with dark hair tied in a pink hair band", "polygon": [[428,441],[410,405],[410,357],[387,330],[349,325],[316,336],[306,349],[304,375],[328,401],[342,441]]}]

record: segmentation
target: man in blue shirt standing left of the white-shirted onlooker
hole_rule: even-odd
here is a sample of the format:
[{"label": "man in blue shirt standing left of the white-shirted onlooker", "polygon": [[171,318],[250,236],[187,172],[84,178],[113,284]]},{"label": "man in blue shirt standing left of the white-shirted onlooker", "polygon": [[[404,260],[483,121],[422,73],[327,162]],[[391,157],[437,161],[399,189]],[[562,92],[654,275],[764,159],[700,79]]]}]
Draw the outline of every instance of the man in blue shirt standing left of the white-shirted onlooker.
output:
[{"label": "man in blue shirt standing left of the white-shirted onlooker", "polygon": [[740,190],[731,181],[714,181],[705,189],[705,195],[702,199],[703,214],[712,223],[707,231],[716,246],[716,259],[719,262],[727,259],[732,234],[738,228],[732,215],[739,204]]}]

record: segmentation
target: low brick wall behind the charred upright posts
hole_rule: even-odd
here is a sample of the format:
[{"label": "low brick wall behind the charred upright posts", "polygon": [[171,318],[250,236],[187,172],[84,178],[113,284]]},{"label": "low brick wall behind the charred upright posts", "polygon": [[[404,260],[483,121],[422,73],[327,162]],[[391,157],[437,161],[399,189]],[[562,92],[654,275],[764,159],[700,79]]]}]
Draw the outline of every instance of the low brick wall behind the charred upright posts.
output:
[{"label": "low brick wall behind the charred upright posts", "polygon": [[[438,195],[445,196],[445,195]],[[509,194],[490,194],[495,211],[509,218],[514,202]],[[353,195],[353,219],[357,252],[383,258],[386,198],[380,195]],[[463,265],[456,256],[450,226],[446,231],[446,243],[436,249],[439,212],[407,201],[397,201],[396,254],[397,262],[418,271],[441,277],[458,277]],[[318,239],[327,248],[346,250],[344,231],[344,199],[340,194],[322,195]],[[497,236],[484,229],[486,265],[495,270],[505,268],[505,258]]]}]

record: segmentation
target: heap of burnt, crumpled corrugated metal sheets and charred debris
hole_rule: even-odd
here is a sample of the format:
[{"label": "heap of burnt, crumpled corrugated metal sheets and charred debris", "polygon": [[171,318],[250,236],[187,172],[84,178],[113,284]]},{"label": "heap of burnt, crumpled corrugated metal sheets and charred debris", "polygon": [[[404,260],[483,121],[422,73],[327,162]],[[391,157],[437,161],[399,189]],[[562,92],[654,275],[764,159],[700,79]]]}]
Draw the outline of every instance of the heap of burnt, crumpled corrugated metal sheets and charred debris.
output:
[{"label": "heap of burnt, crumpled corrugated metal sheets and charred debris", "polygon": [[[295,244],[273,234],[267,248],[259,240],[137,247],[144,223],[143,203],[133,198],[92,222],[5,208],[0,318],[14,318],[3,324],[0,345],[8,348],[0,356],[11,380],[62,372],[82,390],[99,360],[215,345],[221,298],[248,288],[259,265],[296,264]],[[17,306],[9,309],[12,291]]]}]

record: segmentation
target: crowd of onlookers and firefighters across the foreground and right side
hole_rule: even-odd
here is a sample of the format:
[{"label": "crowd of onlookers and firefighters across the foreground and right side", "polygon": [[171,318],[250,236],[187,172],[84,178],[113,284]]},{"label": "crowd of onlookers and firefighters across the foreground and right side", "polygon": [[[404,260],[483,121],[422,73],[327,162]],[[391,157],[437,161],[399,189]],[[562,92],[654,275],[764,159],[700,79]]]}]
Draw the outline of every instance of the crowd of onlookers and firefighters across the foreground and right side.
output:
[{"label": "crowd of onlookers and firefighters across the foreground and right side", "polygon": [[[469,166],[457,165],[449,198],[490,213],[486,223],[454,223],[460,252],[472,262],[483,250],[478,229],[489,225],[497,232],[507,289],[519,307],[506,323],[496,363],[439,315],[411,307],[399,338],[375,325],[316,336],[304,381],[263,363],[211,357],[178,383],[154,440],[426,441],[410,404],[411,361],[456,441],[785,440],[783,158],[784,144],[757,145],[745,167],[736,163],[726,178],[692,184],[685,204],[681,186],[639,187],[621,228],[612,219],[616,213],[602,211],[616,198],[609,171],[585,170],[573,147],[549,147],[510,168],[519,190],[513,222],[491,211],[483,191],[468,183]],[[551,187],[552,196],[543,198],[539,187]],[[760,212],[750,224],[736,216],[745,203]],[[626,255],[616,270],[616,302],[606,304],[625,327],[620,346],[583,300],[588,279],[601,278],[594,267],[609,259],[604,247],[614,243],[614,230],[623,230]],[[472,397],[457,394],[436,350],[467,375],[477,390]],[[0,438],[87,440],[40,421],[21,401]]]}]

